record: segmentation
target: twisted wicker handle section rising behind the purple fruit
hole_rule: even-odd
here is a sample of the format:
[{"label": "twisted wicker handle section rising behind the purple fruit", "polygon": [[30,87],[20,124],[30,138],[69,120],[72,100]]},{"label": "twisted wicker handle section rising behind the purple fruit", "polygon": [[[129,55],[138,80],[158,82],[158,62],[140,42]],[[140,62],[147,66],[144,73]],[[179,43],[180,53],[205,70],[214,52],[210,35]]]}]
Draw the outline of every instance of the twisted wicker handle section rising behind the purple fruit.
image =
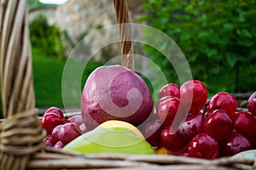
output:
[{"label": "twisted wicker handle section rising behind the purple fruit", "polygon": [[113,0],[117,23],[119,24],[119,37],[121,41],[122,65],[134,70],[133,48],[131,42],[131,25],[125,0]]}]

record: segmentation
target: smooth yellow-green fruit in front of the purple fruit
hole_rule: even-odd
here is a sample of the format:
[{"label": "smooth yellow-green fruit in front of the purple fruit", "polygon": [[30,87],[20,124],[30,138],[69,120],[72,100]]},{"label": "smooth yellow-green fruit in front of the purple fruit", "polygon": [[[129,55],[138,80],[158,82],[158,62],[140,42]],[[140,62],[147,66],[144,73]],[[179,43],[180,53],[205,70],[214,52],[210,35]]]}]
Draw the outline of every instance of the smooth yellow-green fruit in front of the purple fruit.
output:
[{"label": "smooth yellow-green fruit in front of the purple fruit", "polygon": [[155,154],[154,149],[146,140],[125,127],[96,127],[65,145],[63,150],[84,154]]}]

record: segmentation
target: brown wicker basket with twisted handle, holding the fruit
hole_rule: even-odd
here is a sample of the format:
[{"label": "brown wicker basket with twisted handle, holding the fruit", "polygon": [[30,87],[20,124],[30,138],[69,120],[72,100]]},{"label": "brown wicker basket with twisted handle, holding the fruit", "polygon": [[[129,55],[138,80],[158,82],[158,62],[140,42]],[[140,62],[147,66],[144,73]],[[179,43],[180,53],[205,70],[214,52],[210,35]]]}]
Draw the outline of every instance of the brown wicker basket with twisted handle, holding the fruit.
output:
[{"label": "brown wicker basket with twisted handle, holding the fruit", "polygon": [[[119,24],[129,23],[125,0],[113,0]],[[44,146],[35,108],[32,57],[26,0],[1,0],[0,61],[3,117],[0,123],[0,167],[22,169],[236,169],[256,167],[253,160],[231,157],[213,161],[182,156],[125,154],[81,155]],[[119,25],[122,65],[133,69],[131,27]]]}]

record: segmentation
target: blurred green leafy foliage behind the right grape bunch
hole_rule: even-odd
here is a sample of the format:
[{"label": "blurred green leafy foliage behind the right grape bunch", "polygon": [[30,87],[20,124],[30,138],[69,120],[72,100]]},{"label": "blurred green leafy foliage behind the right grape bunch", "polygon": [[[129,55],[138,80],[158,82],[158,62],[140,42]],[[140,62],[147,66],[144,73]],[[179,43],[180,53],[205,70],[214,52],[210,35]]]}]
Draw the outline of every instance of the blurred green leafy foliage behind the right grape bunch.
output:
[{"label": "blurred green leafy foliage behind the right grape bunch", "polygon": [[[193,78],[210,93],[255,91],[256,1],[147,0],[142,21],[177,42],[189,61]],[[167,62],[145,47],[171,80]],[[175,82],[175,81],[174,81]]]}]

